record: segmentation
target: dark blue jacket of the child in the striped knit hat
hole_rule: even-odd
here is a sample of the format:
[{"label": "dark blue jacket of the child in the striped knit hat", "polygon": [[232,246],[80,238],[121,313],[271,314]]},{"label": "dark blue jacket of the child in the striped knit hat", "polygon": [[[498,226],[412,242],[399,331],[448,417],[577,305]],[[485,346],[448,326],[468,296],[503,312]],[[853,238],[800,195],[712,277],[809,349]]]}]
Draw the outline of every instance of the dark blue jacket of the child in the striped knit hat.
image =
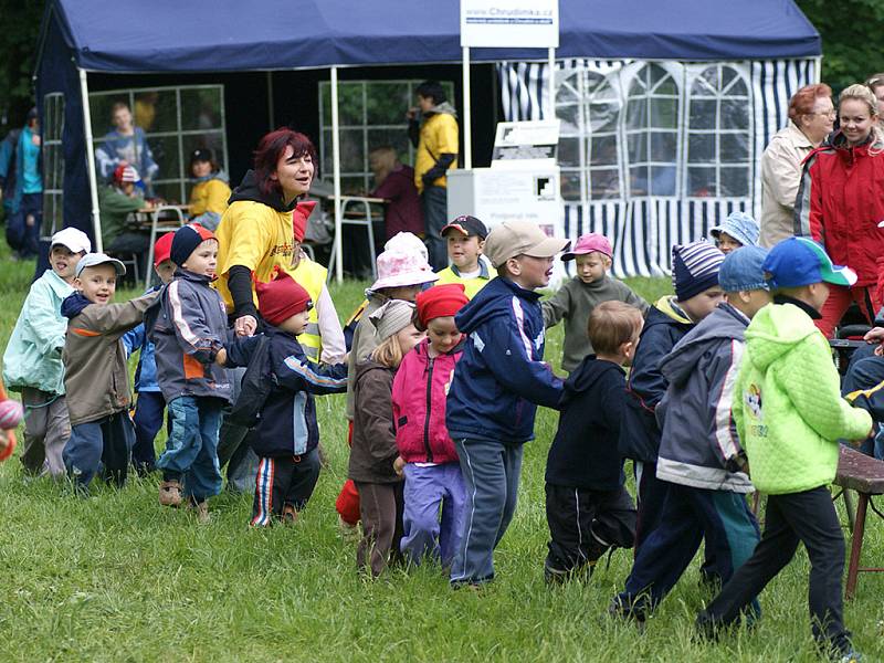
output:
[{"label": "dark blue jacket of the child in the striped knit hat", "polygon": [[660,360],[694,326],[681,309],[673,306],[673,301],[674,297],[662,297],[648,309],[627,382],[620,452],[624,457],[643,463],[656,463],[660,448],[660,428],[654,410],[669,387],[660,372]]}]

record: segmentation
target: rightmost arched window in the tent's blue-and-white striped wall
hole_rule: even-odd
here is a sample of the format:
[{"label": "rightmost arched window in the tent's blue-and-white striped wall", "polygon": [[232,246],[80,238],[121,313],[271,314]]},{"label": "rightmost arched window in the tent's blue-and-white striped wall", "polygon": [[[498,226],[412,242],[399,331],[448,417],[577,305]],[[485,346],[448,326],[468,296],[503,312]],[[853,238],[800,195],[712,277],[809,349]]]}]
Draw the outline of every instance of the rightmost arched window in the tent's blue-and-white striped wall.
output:
[{"label": "rightmost arched window in the tent's blue-and-white striped wall", "polygon": [[747,198],[750,194],[749,85],[729,64],[699,71],[687,110],[685,196]]}]

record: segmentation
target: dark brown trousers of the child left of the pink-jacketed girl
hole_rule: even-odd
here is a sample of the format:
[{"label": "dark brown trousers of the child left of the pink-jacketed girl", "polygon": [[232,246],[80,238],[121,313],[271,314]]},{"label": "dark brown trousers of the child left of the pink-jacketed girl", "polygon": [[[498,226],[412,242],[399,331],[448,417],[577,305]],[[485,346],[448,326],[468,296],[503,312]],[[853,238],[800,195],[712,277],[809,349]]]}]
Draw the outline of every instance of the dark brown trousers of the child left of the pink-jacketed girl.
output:
[{"label": "dark brown trousers of the child left of the pink-jacketed girl", "polygon": [[404,482],[376,484],[357,481],[359,517],[362,538],[356,548],[356,566],[361,571],[368,567],[376,578],[391,561],[402,561],[402,512]]}]

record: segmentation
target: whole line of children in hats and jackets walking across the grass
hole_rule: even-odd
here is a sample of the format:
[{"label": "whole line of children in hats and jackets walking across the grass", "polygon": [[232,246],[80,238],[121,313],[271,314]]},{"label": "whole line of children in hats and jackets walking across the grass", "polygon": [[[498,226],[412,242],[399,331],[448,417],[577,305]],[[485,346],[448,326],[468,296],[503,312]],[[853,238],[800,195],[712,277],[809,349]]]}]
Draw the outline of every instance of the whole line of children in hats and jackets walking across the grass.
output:
[{"label": "whole line of children in hats and jackets walking across the grass", "polygon": [[[232,335],[212,287],[218,240],[199,224],[160,238],[161,285],[120,304],[112,299],[125,267],[65,229],[4,356],[7,385],[28,409],[22,462],[87,492],[99,472],[122,484],[131,452],[140,472],[161,471],[162,505],[207,519],[222,484],[225,368],[248,367],[232,412],[253,429],[260,459],[251,523],[291,523],[319,474],[314,394],[346,391],[349,481],[337,507],[359,537],[358,567],[378,576],[397,560],[431,558],[453,587],[478,588],[494,577],[523,446],[545,406],[560,411],[546,467],[548,582],[588,576],[607,551],[634,547],[610,612],[643,623],[705,540],[701,575],[720,592],[697,625],[714,636],[760,615],[758,592],[801,541],[814,636],[825,653],[849,656],[844,544],[827,486],[838,440],[866,438],[872,420],[840,398],[812,319],[825,284],[849,284],[851,273],[807,239],[766,252],[741,212],[713,235],[717,246],[673,248],[675,294],[649,306],[609,275],[613,250],[601,235],[561,255],[575,276],[541,302],[568,242],[535,224],[488,232],[455,219],[442,230],[452,265],[439,274],[422,243],[400,233],[349,325],[348,361],[320,364],[298,343],[314,303],[285,271],[255,283],[262,333]],[[567,380],[544,361],[545,329],[561,319]],[[135,349],[134,427],[126,359]],[[169,434],[155,461],[164,408]],[[764,535],[746,504],[756,490],[768,495]]]}]

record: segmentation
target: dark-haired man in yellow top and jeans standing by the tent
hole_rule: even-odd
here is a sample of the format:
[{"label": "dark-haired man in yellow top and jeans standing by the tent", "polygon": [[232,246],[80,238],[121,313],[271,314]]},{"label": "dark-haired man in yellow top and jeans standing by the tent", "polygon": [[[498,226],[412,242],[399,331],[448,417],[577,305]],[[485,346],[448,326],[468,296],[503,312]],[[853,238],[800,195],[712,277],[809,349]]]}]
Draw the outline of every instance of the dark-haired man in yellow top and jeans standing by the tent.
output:
[{"label": "dark-haired man in yellow top and jeans standing by the tent", "polygon": [[409,138],[414,155],[414,186],[421,194],[427,249],[433,270],[448,266],[442,228],[448,223],[448,180],[445,171],[457,167],[457,114],[436,81],[418,86],[418,107],[408,112]]}]

